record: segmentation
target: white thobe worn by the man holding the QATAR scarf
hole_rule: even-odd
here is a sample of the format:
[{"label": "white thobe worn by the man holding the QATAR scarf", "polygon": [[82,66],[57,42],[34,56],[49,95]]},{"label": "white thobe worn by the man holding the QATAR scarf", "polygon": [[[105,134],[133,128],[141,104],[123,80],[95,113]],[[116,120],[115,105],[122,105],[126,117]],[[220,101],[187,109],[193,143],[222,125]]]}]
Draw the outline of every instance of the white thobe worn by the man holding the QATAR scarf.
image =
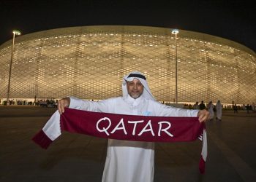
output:
[{"label": "white thobe worn by the man holding the QATAR scarf", "polygon": [[[142,116],[197,116],[198,112],[173,108],[142,96],[135,100],[129,95],[99,102],[71,98],[69,108]],[[154,181],[154,143],[109,139],[102,181]]]}]

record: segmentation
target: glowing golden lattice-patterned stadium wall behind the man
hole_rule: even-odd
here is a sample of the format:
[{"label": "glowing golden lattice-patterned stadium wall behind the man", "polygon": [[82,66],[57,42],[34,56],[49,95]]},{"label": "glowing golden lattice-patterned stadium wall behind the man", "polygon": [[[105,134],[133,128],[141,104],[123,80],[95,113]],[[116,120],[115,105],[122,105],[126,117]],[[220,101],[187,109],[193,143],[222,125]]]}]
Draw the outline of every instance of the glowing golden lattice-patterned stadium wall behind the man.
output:
[{"label": "glowing golden lattice-patterned stadium wall behind the man", "polygon": [[[0,46],[0,98],[7,98],[12,40]],[[255,52],[217,36],[178,33],[178,101],[252,103]],[[129,71],[146,74],[159,101],[175,98],[175,35],[169,28],[84,26],[16,36],[10,98],[101,100],[121,95]]]}]

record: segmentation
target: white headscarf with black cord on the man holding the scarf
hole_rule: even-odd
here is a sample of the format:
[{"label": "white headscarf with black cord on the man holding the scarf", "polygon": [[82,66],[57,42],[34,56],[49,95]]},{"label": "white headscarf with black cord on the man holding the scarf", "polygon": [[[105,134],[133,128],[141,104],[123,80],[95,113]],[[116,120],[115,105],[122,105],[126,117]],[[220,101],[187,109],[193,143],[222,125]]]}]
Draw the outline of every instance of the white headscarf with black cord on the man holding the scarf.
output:
[{"label": "white headscarf with black cord on the man holding the scarf", "polygon": [[146,76],[141,74],[139,71],[132,71],[131,73],[124,76],[123,84],[122,84],[123,97],[127,97],[128,95],[126,81],[132,82],[133,79],[138,79],[140,80],[140,83],[143,84],[144,90],[143,90],[143,94],[141,95],[143,98],[156,100],[154,96],[151,94],[151,91],[148,87],[148,82],[146,82]]}]

